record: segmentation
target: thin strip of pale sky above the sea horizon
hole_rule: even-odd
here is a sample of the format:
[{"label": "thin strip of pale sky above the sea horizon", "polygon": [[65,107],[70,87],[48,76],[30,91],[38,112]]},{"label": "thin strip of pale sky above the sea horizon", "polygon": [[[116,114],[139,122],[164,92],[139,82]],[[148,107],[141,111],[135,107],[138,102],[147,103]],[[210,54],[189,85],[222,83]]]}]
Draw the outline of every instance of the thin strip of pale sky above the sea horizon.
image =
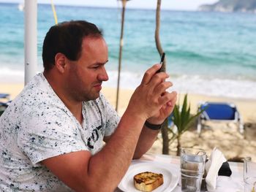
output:
[{"label": "thin strip of pale sky above the sea horizon", "polygon": [[[0,0],[0,2],[22,3],[24,0]],[[34,1],[34,0],[33,0]],[[38,3],[50,4],[50,0],[37,0]],[[196,10],[201,4],[212,4],[217,0],[162,0],[161,9]],[[53,4],[82,5],[90,7],[121,7],[117,0],[53,0]],[[127,8],[155,9],[157,0],[130,0]]]}]

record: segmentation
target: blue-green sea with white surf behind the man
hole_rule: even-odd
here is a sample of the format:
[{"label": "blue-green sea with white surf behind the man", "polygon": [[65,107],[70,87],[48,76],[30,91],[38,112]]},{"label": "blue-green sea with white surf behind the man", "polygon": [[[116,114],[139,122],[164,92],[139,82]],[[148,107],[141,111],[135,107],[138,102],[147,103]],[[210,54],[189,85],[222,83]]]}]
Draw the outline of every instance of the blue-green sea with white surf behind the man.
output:
[{"label": "blue-green sea with white surf behind the man", "polygon": [[[0,15],[0,83],[23,83],[24,12],[18,4],[1,3]],[[109,47],[109,80],[103,85],[116,88],[121,7],[56,5],[56,15],[59,22],[88,20],[102,29]],[[125,12],[121,88],[136,88],[146,69],[159,63],[155,18],[155,9]],[[38,72],[43,70],[42,42],[54,24],[50,5],[38,4]],[[162,9],[160,41],[173,82],[170,91],[256,99],[256,14]]]}]

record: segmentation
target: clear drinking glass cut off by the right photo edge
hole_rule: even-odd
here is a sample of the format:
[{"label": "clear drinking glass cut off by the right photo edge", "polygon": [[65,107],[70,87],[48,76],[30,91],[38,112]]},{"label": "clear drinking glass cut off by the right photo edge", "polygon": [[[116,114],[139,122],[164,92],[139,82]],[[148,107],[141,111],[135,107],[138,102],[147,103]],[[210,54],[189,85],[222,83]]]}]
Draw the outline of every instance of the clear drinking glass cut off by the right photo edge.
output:
[{"label": "clear drinking glass cut off by the right photo edge", "polygon": [[256,163],[252,158],[244,158],[244,192],[256,191]]}]

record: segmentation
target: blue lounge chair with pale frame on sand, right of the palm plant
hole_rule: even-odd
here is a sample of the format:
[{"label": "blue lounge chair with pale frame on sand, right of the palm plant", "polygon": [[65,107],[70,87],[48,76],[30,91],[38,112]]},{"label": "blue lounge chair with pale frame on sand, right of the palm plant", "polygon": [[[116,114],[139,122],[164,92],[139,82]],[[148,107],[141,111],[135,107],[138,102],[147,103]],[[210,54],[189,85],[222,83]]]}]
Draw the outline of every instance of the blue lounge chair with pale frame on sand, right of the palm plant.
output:
[{"label": "blue lounge chair with pale frame on sand, right of the palm plant", "polygon": [[244,133],[244,125],[236,105],[224,102],[203,102],[198,110],[204,110],[197,118],[197,133],[200,134],[205,121],[236,123],[241,134]]}]

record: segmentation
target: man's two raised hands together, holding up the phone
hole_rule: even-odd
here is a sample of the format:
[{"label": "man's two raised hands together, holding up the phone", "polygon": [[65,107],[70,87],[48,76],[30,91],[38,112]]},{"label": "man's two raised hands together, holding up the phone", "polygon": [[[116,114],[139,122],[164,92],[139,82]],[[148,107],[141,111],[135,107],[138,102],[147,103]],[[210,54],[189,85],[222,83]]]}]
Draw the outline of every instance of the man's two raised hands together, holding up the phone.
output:
[{"label": "man's two raised hands together, holding up the phone", "polygon": [[156,64],[146,71],[127,108],[153,124],[161,124],[173,111],[176,102],[176,92],[166,91],[173,85],[172,82],[165,81],[169,75],[164,72],[156,73],[160,67],[161,65]]}]

